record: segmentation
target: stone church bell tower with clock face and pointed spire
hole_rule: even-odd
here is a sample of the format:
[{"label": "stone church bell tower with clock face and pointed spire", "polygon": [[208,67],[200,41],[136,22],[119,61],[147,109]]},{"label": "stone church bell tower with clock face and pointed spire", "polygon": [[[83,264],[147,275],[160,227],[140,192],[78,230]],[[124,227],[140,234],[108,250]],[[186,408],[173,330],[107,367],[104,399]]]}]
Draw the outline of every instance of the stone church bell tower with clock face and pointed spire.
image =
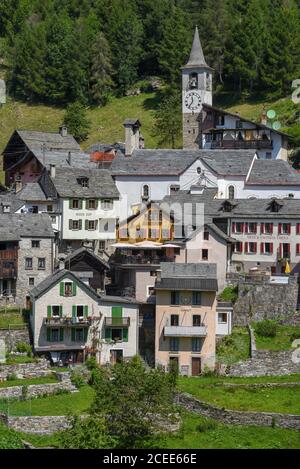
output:
[{"label": "stone church bell tower with clock face and pointed spire", "polygon": [[198,28],[187,64],[182,67],[183,148],[201,148],[202,104],[212,105],[212,68],[205,62]]}]

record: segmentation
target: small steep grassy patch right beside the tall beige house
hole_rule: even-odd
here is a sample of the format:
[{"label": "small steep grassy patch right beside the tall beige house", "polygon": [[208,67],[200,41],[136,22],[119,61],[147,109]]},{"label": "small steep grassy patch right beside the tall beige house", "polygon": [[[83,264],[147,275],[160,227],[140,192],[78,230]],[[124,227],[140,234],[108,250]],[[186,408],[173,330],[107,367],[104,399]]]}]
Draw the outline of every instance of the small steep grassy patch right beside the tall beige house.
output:
[{"label": "small steep grassy patch right beside the tall beige house", "polygon": [[250,357],[250,338],[246,327],[234,327],[232,334],[217,343],[217,361],[231,365]]}]

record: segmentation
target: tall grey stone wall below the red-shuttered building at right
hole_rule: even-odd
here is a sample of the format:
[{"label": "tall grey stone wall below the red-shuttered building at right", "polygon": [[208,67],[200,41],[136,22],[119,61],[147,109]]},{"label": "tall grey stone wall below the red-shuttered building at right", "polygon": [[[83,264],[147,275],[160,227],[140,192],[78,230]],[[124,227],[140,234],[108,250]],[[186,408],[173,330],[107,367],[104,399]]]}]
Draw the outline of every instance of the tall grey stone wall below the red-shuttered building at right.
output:
[{"label": "tall grey stone wall below the red-shuttered building at right", "polygon": [[297,276],[288,284],[264,281],[238,281],[238,299],[233,308],[233,325],[245,326],[250,321],[277,319],[282,324],[299,325],[300,312],[296,313],[299,295]]}]

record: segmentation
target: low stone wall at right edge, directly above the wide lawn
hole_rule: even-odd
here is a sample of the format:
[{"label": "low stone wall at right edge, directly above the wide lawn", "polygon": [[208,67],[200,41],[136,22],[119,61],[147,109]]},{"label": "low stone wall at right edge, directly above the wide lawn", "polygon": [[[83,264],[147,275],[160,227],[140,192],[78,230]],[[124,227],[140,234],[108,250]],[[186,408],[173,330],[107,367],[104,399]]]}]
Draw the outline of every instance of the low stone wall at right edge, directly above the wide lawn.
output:
[{"label": "low stone wall at right edge, directly above the wide lawn", "polygon": [[230,376],[281,376],[300,373],[300,363],[292,361],[295,350],[256,350],[253,358],[228,367]]}]

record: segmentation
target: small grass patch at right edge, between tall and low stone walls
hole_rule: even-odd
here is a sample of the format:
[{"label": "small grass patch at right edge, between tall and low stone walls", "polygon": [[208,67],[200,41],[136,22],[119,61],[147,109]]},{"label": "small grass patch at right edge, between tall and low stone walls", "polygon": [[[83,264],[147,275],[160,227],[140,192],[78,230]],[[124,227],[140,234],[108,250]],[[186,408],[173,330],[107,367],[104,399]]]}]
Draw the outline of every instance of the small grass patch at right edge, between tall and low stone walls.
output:
[{"label": "small grass patch at right edge, between tall and low stone walls", "polygon": [[[252,324],[255,328],[255,323]],[[262,337],[255,332],[256,348],[258,350],[288,350],[291,348],[293,334],[300,338],[300,326],[277,326],[275,337]]]}]

